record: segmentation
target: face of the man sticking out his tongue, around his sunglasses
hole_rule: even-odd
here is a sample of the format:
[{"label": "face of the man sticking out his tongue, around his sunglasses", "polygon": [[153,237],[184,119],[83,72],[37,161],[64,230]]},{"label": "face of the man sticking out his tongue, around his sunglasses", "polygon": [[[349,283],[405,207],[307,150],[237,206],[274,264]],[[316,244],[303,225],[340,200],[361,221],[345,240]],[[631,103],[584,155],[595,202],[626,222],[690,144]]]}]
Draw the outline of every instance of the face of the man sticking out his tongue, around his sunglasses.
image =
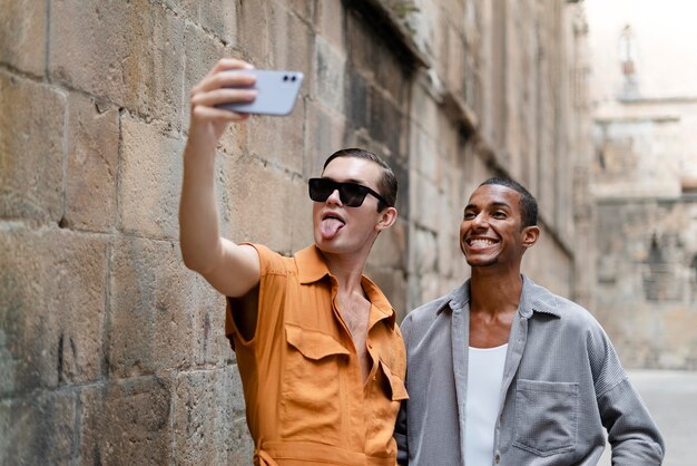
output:
[{"label": "face of the man sticking out his tongue, around his sunglasses", "polygon": [[[323,178],[335,182],[352,182],[380,193],[379,181],[382,168],[374,162],[356,157],[334,158],[324,168]],[[325,202],[313,204],[315,244],[331,254],[364,252],[367,255],[381,230],[392,225],[394,207],[377,212],[377,198],[367,194],[363,204],[350,207],[342,203],[338,191]]]}]

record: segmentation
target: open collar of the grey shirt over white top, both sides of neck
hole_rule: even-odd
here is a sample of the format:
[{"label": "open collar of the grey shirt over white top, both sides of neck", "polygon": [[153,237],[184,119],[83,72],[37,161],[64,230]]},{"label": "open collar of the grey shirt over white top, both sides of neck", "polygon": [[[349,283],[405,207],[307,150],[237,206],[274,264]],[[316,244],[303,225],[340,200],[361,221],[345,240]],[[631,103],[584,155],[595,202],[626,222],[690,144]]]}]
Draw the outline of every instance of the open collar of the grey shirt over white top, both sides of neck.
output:
[{"label": "open collar of the grey shirt over white top, both sides of neck", "polygon": [[[557,310],[557,297],[550,293],[547,289],[536,284],[524,274],[521,274],[521,276],[523,280],[523,287],[520,295],[520,303],[518,304],[518,312],[526,319],[530,319],[533,312],[542,312],[560,318],[561,314]],[[463,309],[469,302],[470,281],[468,280],[445,298],[443,304],[438,309],[436,313],[440,314],[446,308],[457,312]]]}]

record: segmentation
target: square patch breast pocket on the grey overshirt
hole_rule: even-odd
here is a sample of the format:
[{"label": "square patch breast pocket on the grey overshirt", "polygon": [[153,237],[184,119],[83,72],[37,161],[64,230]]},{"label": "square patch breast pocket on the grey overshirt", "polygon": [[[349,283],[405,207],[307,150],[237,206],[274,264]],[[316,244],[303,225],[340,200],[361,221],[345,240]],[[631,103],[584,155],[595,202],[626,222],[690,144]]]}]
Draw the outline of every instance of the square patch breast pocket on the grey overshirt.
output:
[{"label": "square patch breast pocket on the grey overshirt", "polygon": [[576,447],[578,384],[519,379],[513,445],[538,456]]}]

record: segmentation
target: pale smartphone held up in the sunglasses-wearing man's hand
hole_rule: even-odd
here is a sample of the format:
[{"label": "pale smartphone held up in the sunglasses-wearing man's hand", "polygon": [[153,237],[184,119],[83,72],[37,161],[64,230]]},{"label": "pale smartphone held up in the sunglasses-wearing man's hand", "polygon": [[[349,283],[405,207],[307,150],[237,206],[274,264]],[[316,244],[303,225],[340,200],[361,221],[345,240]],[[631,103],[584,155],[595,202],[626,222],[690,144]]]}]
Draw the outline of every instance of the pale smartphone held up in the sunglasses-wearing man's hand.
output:
[{"label": "pale smartphone held up in the sunglasses-wearing man's hand", "polygon": [[256,76],[256,84],[252,88],[258,93],[253,101],[219,105],[220,108],[243,114],[288,115],[295,106],[303,82],[303,74],[300,71],[234,69],[227,72]]}]

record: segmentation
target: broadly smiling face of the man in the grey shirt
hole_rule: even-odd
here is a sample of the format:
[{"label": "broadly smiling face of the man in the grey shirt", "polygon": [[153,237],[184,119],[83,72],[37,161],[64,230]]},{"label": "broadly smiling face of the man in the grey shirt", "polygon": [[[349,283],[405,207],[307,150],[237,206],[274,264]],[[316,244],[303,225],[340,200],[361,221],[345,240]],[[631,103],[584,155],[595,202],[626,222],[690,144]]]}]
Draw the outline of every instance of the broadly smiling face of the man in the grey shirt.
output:
[{"label": "broadly smiling face of the man in the grey shirt", "polygon": [[522,227],[520,193],[491,184],[479,186],[464,208],[460,249],[468,264],[520,272],[523,252],[534,244],[540,230]]}]

